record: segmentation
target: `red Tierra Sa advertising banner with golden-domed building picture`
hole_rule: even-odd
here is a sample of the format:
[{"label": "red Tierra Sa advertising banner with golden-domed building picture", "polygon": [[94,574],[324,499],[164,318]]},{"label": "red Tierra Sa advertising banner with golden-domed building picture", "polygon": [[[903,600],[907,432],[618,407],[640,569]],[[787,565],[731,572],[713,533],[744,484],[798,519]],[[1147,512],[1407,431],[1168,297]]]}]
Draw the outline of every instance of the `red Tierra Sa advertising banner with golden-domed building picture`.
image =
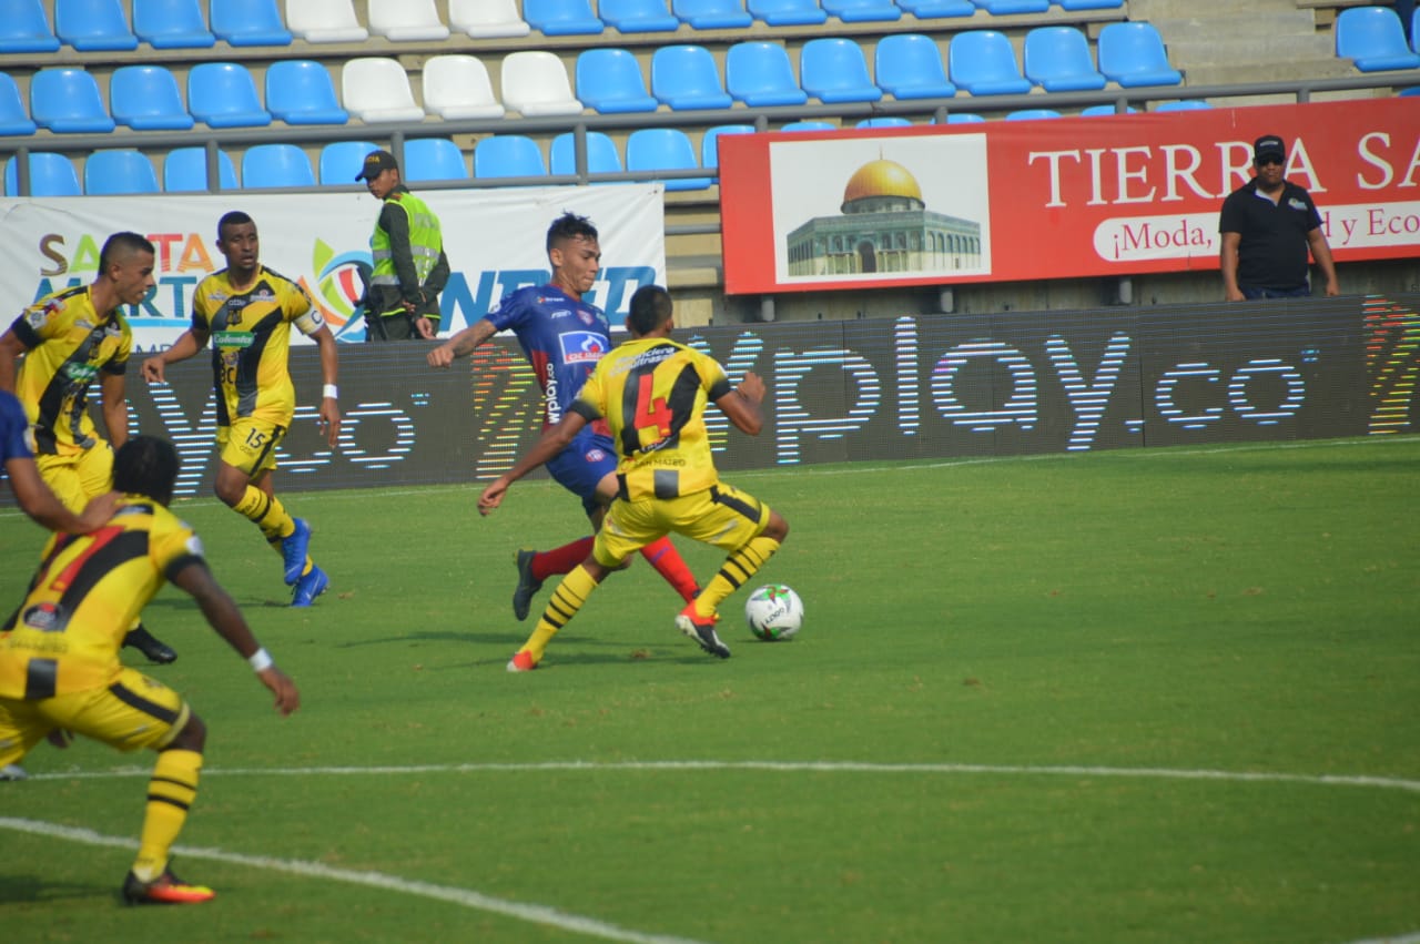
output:
[{"label": "red Tierra Sa advertising banner with golden-domed building picture", "polygon": [[1216,270],[1267,133],[1339,263],[1420,257],[1420,99],[1377,98],[724,135],[726,291]]}]

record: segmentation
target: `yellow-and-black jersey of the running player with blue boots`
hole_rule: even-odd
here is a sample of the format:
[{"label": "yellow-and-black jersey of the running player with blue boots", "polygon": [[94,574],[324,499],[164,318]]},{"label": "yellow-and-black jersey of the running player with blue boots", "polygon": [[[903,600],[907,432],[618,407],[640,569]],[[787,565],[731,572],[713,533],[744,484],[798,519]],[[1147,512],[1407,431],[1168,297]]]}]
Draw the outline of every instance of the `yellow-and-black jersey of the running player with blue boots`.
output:
[{"label": "yellow-and-black jersey of the running player with blue boots", "polygon": [[325,324],[305,290],[261,267],[256,282],[234,291],[229,270],[197,282],[192,326],[212,335],[217,424],[243,416],[288,424],[295,413],[291,383],[291,325],[312,335]]}]

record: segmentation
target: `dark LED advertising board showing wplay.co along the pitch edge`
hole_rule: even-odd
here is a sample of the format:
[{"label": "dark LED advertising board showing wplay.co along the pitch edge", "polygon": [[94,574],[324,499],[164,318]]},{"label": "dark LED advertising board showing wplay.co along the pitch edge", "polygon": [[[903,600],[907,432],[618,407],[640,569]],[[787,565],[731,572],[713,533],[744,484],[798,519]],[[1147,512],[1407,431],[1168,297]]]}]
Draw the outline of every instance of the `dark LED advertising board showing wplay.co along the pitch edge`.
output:
[{"label": "dark LED advertising board showing wplay.co along the pitch edge", "polygon": [[[1075,312],[693,328],[677,339],[767,386],[758,437],[711,410],[721,470],[1414,433],[1420,294]],[[317,352],[291,352],[283,490],[491,478],[532,443],[535,379],[511,338],[452,371],[426,345],[341,345],[344,427],[317,426]],[[209,494],[210,372],[129,379],[135,430],[170,437],[179,494]],[[9,497],[7,497],[9,498]]]}]

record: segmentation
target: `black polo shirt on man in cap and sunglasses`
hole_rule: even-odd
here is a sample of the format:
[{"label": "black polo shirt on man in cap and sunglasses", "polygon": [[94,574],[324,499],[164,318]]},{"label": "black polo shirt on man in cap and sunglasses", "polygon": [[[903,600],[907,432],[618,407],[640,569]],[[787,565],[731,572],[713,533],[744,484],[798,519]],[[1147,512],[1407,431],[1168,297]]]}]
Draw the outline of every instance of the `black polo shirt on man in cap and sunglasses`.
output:
[{"label": "black polo shirt on man in cap and sunglasses", "polygon": [[1223,202],[1220,233],[1237,233],[1238,285],[1291,291],[1306,285],[1306,234],[1322,224],[1316,204],[1306,190],[1282,182],[1282,197],[1257,192],[1257,179],[1248,180]]}]

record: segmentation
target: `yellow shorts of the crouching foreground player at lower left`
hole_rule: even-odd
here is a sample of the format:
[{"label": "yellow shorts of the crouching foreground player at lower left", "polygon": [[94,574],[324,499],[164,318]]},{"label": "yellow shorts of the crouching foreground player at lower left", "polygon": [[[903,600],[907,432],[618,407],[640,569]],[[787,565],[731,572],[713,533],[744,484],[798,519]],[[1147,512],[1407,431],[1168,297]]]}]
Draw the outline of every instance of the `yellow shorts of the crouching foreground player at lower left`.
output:
[{"label": "yellow shorts of the crouching foreground player at lower left", "polygon": [[183,697],[136,669],[124,669],[106,688],[43,701],[0,698],[0,767],[18,764],[45,734],[64,728],[119,751],[168,747],[187,724]]}]

